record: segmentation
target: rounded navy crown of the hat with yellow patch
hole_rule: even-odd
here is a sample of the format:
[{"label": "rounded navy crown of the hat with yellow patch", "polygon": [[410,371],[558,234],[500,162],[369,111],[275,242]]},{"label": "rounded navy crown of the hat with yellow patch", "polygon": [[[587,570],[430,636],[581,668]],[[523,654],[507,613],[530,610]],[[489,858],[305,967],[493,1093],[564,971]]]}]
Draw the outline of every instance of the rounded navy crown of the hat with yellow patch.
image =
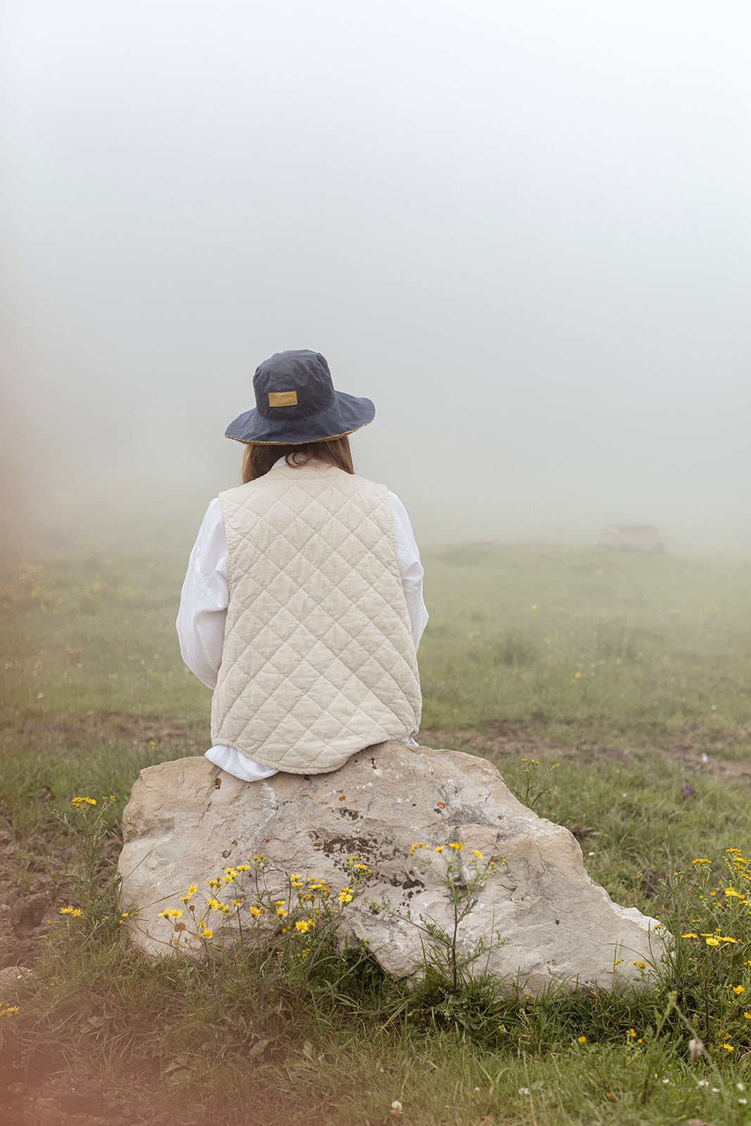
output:
[{"label": "rounded navy crown of the hat with yellow patch", "polygon": [[307,348],[275,352],[256,368],[256,409],[265,419],[304,419],[329,410],[333,382],[325,357]]}]

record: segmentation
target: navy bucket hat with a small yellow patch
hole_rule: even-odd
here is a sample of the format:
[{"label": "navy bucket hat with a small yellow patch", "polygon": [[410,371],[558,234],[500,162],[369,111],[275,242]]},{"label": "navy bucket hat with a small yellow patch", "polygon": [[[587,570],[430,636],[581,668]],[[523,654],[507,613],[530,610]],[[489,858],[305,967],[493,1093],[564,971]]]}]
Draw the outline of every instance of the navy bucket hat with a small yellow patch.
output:
[{"label": "navy bucket hat with a small yellow patch", "polygon": [[299,446],[343,438],[375,417],[369,399],[334,391],[324,357],[306,348],[276,352],[259,364],[253,391],[256,409],[230,422],[226,438],[260,446]]}]

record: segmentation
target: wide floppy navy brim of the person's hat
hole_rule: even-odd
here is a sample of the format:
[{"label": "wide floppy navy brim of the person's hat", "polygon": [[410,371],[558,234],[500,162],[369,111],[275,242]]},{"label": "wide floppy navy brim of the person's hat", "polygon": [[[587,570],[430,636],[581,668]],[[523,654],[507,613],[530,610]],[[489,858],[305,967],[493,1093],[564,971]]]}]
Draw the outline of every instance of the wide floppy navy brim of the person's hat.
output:
[{"label": "wide floppy navy brim of the person's hat", "polygon": [[302,446],[309,441],[343,438],[375,418],[375,406],[369,399],[347,395],[343,391],[334,392],[331,406],[306,419],[285,418],[285,408],[278,410],[278,419],[266,419],[254,408],[245,411],[230,422],[224,437],[259,446]]}]

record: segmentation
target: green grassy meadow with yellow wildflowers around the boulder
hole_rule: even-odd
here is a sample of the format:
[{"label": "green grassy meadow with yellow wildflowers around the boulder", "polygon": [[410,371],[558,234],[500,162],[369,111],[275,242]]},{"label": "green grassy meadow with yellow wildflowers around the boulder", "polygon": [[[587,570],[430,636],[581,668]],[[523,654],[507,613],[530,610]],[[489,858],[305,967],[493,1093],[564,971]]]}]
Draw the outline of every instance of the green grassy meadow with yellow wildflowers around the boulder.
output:
[{"label": "green grassy meadow with yellow wildflowers around the boulder", "polygon": [[[207,747],[209,692],[175,637],[184,561],[32,557],[0,580],[0,965],[37,959],[0,997],[9,1115],[39,1084],[62,1098],[64,1075],[123,1124],[746,1121],[748,563],[491,544],[423,562],[423,741],[484,754],[522,794],[530,759],[561,762],[535,808],[573,829],[614,899],[677,932],[660,986],[410,993],[361,951],[315,972],[269,951],[143,963],[109,877],[138,770]],[[110,793],[87,867],[70,799]],[[60,915],[83,900],[88,918]],[[735,942],[680,938],[701,931]]]}]

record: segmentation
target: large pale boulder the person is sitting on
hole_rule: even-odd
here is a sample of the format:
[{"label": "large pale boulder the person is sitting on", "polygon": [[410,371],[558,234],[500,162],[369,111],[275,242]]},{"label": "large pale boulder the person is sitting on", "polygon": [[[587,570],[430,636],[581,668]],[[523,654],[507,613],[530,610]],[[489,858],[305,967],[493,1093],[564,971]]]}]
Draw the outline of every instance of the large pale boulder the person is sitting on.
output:
[{"label": "large pale boulder the person is sitting on", "polygon": [[[535,993],[552,982],[638,985],[649,969],[634,963],[662,953],[659,924],[618,906],[590,879],[566,829],[518,802],[492,763],[459,751],[381,743],[332,774],[279,774],[260,783],[240,781],[203,757],[162,762],[141,771],[123,833],[123,903],[138,911],[127,924],[149,954],[169,950],[175,936],[173,920],[160,912],[181,910],[193,922],[180,899],[188,886],[197,884],[204,899],[229,900],[231,888],[212,892],[207,881],[257,854],[267,858],[267,883],[279,899],[293,873],[324,881],[336,895],[351,881],[347,858],[367,864],[373,875],[343,910],[342,933],[367,940],[399,977],[422,969],[420,926],[453,927],[444,878],[449,864],[463,865],[471,878],[490,860],[506,861],[488,873],[458,928],[459,955],[480,941],[488,947],[473,964],[476,974],[490,972]],[[193,902],[202,902],[200,892]],[[493,945],[498,937],[502,945]]]}]

